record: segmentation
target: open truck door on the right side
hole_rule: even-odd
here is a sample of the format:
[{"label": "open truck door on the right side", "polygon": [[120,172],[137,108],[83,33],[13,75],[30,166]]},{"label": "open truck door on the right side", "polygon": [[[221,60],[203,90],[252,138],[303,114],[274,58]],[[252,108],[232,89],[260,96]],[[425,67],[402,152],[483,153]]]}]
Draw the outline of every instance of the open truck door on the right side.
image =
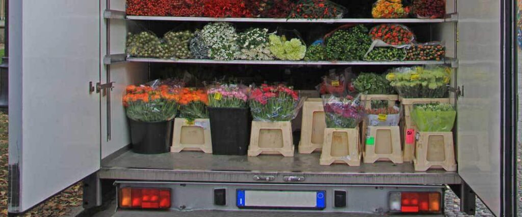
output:
[{"label": "open truck door on the right side", "polygon": [[459,0],[458,172],[497,216],[513,216],[516,1]]}]

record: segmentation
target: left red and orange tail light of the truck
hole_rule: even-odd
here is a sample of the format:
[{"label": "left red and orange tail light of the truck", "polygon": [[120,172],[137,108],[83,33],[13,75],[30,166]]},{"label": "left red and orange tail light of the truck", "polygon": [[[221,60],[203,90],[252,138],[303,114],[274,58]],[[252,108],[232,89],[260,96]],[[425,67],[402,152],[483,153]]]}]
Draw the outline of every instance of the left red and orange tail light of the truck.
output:
[{"label": "left red and orange tail light of the truck", "polygon": [[120,188],[120,207],[134,209],[169,209],[171,189]]}]

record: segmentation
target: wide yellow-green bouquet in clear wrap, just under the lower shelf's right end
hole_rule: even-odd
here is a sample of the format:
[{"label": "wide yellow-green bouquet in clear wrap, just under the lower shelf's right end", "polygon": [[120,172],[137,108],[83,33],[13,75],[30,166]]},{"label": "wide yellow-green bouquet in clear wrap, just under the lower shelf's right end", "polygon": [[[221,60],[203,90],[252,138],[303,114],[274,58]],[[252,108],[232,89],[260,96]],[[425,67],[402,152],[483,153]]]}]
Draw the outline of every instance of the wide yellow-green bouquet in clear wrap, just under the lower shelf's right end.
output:
[{"label": "wide yellow-green bouquet in clear wrap, just under the lower shelf's right end", "polygon": [[404,98],[445,98],[450,75],[447,67],[412,67],[393,69],[386,79]]}]

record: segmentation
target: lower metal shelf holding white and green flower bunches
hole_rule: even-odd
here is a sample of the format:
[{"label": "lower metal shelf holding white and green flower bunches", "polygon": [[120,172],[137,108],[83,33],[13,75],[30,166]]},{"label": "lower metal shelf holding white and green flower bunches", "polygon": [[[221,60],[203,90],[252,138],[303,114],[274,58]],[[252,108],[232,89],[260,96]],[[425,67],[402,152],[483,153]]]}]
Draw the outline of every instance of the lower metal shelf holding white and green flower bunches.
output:
[{"label": "lower metal shelf holding white and green flower bunches", "polygon": [[197,64],[231,64],[231,65],[443,65],[441,61],[284,61],[284,60],[211,60],[211,59],[155,59],[127,58],[129,62],[162,62],[162,63],[197,63]]}]

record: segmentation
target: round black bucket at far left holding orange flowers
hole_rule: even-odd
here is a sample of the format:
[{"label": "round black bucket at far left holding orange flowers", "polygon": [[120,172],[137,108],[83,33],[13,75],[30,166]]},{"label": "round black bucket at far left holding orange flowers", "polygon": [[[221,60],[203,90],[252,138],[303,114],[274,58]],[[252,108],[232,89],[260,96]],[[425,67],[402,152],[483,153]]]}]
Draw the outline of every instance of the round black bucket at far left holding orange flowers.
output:
[{"label": "round black bucket at far left holding orange flowers", "polygon": [[163,154],[170,151],[173,121],[140,122],[129,120],[132,150],[138,154]]}]

